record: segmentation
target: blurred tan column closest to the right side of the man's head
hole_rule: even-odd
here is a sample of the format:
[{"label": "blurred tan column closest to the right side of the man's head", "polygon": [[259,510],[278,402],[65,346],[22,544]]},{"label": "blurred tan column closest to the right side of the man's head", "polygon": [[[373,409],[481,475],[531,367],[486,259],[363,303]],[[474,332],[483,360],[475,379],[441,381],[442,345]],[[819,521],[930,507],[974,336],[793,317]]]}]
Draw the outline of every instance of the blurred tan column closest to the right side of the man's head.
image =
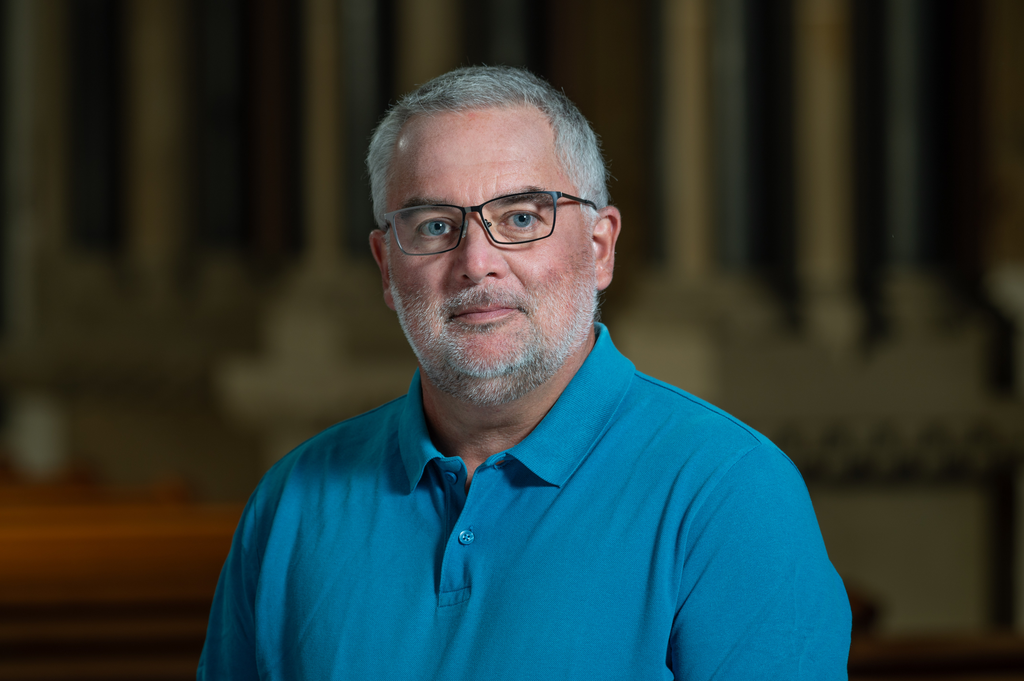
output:
[{"label": "blurred tan column closest to the right side of the man's head", "polygon": [[667,266],[699,288],[715,269],[707,0],[665,3],[662,193]]}]

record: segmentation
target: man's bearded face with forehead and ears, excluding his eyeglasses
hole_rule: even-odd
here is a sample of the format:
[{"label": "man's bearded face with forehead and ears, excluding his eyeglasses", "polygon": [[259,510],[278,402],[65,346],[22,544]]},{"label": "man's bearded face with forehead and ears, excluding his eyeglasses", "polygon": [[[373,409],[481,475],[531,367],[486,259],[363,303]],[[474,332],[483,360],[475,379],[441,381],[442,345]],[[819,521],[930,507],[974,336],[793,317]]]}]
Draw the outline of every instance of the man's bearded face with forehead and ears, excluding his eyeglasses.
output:
[{"label": "man's bearded face with forehead and ears, excluding his eyeglasses", "polygon": [[[547,118],[532,108],[413,118],[392,163],[389,211],[475,206],[532,189],[579,196]],[[429,256],[403,254],[393,236],[371,237],[385,300],[434,386],[475,405],[505,403],[588,347],[596,292],[611,280],[617,213],[606,209],[595,221],[562,200],[557,215],[548,239],[506,246],[472,213],[459,248]]]}]

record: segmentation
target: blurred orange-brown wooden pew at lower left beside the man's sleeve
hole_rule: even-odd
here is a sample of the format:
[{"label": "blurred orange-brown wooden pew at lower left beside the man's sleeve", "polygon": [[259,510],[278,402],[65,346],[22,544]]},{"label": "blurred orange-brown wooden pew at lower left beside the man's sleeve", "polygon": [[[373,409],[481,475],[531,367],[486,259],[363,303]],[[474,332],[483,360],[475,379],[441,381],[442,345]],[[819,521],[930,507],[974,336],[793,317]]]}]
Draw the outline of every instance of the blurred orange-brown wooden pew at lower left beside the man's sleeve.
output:
[{"label": "blurred orange-brown wooden pew at lower left beside the man's sleeve", "polygon": [[243,507],[166,492],[0,481],[0,681],[195,679]]}]

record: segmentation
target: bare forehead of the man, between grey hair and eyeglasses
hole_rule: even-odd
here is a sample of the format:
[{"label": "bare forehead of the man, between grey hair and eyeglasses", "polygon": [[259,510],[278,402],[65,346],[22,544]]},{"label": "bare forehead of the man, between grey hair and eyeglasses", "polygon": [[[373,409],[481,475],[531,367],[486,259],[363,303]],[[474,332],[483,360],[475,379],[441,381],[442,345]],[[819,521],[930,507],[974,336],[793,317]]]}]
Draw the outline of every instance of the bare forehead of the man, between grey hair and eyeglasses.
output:
[{"label": "bare forehead of the man, between grey hair and eyeglasses", "polygon": [[530,187],[572,191],[547,117],[531,107],[417,116],[402,127],[388,210],[412,199],[475,205]]}]

